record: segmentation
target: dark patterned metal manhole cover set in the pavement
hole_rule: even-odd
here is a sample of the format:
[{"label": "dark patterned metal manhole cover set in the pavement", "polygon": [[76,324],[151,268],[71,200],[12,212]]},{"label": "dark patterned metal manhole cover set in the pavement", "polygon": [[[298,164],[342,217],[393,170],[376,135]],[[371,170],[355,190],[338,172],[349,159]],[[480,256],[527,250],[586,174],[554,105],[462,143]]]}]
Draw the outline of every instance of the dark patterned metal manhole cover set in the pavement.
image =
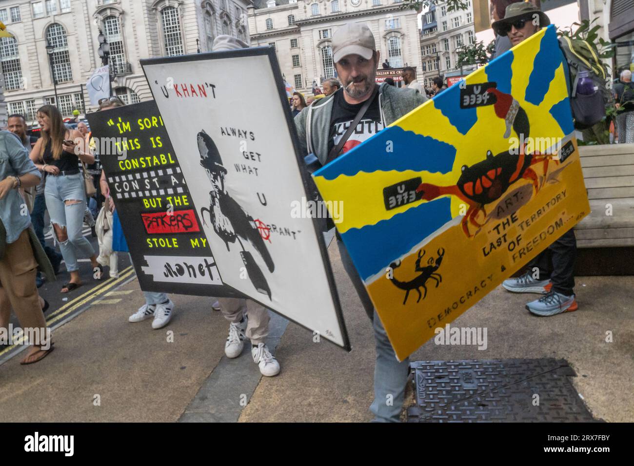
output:
[{"label": "dark patterned metal manhole cover set in the pavement", "polygon": [[417,361],[408,422],[597,422],[565,359]]}]

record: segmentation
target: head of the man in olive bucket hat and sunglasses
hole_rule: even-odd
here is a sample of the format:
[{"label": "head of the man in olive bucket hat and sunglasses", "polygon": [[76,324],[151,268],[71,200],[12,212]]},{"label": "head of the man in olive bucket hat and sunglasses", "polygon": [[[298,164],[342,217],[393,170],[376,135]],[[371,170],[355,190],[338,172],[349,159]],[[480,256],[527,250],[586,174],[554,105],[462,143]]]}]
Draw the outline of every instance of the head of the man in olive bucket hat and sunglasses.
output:
[{"label": "head of the man in olive bucket hat and sunglasses", "polygon": [[548,16],[532,3],[520,2],[507,6],[504,18],[491,24],[498,36],[508,36],[512,46],[533,36],[550,24]]}]

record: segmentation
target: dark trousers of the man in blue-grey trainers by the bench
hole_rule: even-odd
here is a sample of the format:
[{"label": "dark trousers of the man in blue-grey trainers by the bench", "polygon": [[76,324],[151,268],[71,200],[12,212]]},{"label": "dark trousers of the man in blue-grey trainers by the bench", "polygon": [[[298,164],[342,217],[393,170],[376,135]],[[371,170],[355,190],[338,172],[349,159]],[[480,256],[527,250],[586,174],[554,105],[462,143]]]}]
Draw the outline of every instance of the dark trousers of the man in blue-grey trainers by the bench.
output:
[{"label": "dark trousers of the man in blue-grey trainers by the bench", "polygon": [[574,230],[571,228],[529,262],[528,268],[538,268],[540,280],[550,278],[553,291],[570,296],[574,293],[573,273],[576,257],[577,240],[574,236]]}]

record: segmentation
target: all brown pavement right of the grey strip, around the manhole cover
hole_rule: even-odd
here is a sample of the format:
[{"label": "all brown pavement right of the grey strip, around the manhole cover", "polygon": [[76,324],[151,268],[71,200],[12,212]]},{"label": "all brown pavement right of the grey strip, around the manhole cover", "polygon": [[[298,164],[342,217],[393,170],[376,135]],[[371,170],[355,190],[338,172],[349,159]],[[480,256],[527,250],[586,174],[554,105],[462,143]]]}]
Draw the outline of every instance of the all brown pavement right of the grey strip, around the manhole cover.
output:
[{"label": "all brown pavement right of the grey strip, around the manhole cover", "polygon": [[[347,278],[336,244],[328,249],[353,347],[346,353],[289,323],[276,355],[282,372],[262,379],[240,422],[366,422],[372,419],[375,350],[372,326]],[[538,295],[496,288],[451,325],[486,327],[488,345],[441,346],[430,340],[417,360],[556,358],[578,374],[571,377],[595,418],[634,421],[634,277],[577,277],[579,310],[549,318],[524,305]],[[606,342],[606,332],[612,342]],[[405,406],[414,404],[408,384]],[[403,411],[403,420],[405,411]]]}]

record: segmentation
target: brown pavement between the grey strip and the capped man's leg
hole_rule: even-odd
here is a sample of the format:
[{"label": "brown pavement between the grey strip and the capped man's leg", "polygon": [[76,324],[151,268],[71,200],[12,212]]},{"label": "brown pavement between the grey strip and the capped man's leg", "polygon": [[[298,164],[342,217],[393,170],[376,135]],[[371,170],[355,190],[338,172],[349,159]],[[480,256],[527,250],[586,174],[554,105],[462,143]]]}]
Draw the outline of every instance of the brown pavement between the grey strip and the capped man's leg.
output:
[{"label": "brown pavement between the grey strip and the capped man's leg", "polygon": [[262,379],[240,422],[367,422],[372,403],[372,323],[346,275],[337,243],[328,248],[352,351],[288,323],[276,350],[281,372]]}]

